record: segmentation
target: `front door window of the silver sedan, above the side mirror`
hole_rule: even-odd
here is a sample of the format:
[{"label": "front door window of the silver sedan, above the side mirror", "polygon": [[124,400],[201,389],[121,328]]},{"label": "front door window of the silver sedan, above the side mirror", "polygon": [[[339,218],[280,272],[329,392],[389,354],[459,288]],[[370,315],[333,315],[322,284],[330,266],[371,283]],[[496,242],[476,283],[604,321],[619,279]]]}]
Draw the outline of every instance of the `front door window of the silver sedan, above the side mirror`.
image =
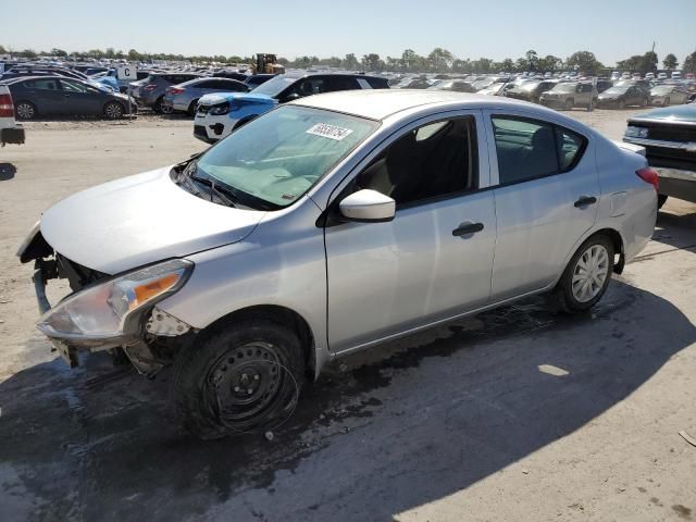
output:
[{"label": "front door window of the silver sedan, above the side mirror", "polygon": [[397,206],[473,190],[478,181],[475,136],[473,117],[409,130],[358,175],[356,188],[377,190]]}]

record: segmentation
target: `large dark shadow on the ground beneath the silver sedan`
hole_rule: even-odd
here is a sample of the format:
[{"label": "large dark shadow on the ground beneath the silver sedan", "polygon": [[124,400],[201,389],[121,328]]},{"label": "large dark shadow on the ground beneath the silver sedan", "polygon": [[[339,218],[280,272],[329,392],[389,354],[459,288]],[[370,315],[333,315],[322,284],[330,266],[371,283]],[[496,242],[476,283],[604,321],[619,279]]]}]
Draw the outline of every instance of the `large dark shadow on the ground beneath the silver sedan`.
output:
[{"label": "large dark shadow on the ground beneath the silver sedan", "polygon": [[581,428],[695,340],[619,277],[585,314],[533,298],[351,356],[272,434],[206,443],[177,430],[166,376],[45,362],[0,384],[0,500],[32,520],[391,520]]}]

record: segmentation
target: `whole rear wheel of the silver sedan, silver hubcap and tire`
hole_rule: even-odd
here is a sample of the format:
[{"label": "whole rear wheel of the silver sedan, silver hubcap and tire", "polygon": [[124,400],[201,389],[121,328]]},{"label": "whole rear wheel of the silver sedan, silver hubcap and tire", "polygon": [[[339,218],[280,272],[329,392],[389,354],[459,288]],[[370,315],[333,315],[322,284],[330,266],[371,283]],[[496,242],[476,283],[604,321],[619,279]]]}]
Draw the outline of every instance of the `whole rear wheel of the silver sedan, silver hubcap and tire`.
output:
[{"label": "whole rear wheel of the silver sedan, silver hubcap and tire", "polygon": [[613,254],[613,244],[607,236],[593,236],[583,243],[554,290],[558,307],[577,313],[599,301],[611,281]]}]

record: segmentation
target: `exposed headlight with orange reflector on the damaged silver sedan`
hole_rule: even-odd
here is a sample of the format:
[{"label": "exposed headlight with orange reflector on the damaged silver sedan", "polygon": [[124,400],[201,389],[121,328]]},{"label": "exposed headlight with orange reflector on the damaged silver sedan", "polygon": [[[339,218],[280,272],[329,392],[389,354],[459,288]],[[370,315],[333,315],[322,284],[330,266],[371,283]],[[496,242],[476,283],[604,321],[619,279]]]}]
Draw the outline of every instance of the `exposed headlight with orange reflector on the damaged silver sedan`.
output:
[{"label": "exposed headlight with orange reflector on the damaged silver sedan", "polygon": [[46,312],[37,327],[76,343],[136,336],[141,312],[184,286],[192,269],[190,261],[175,259],[99,282]]}]

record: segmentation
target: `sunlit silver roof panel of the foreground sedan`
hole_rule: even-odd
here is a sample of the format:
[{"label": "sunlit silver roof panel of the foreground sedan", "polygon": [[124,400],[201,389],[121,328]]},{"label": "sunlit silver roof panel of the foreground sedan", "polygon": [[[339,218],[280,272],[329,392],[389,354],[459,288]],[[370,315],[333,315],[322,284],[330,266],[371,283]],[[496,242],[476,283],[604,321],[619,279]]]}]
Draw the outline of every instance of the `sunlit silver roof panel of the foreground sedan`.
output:
[{"label": "sunlit silver roof panel of the foreground sedan", "polygon": [[[430,89],[364,89],[341,90],[302,98],[296,105],[344,112],[371,120],[385,120],[398,112],[422,105],[443,105],[448,109],[481,109],[535,107],[530,103],[487,95]],[[457,107],[448,107],[457,105]]]}]

